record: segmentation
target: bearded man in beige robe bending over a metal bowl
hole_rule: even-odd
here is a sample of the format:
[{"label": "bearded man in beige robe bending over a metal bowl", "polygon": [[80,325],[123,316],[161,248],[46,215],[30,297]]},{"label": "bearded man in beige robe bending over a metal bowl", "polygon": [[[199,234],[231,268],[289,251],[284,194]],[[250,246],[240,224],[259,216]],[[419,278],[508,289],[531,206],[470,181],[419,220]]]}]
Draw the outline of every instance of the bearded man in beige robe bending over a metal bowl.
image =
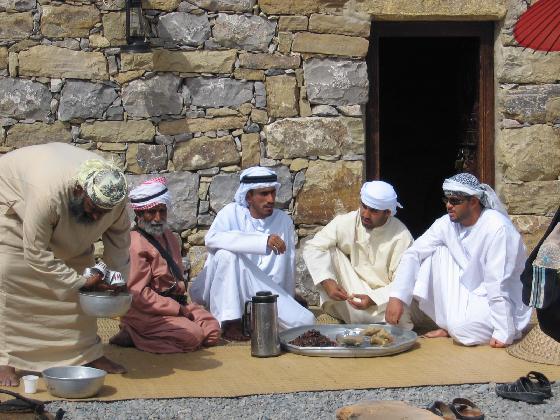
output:
[{"label": "bearded man in beige robe bending over a metal bowl", "polygon": [[128,276],[130,220],[124,174],[95,153],[62,143],[24,147],[0,157],[0,385],[17,386],[15,369],[83,365],[121,373],[103,356],[96,318],[78,290],[103,260]]}]

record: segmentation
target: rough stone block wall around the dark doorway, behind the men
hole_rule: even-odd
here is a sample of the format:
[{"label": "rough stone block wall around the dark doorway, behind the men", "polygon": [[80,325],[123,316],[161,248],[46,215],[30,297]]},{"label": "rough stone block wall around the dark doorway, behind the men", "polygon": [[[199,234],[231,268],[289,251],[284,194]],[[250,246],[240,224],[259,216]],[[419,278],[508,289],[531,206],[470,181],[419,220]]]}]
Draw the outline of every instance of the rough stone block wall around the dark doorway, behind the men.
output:
[{"label": "rough stone block wall around the dark doorway, behind the men", "polygon": [[[490,20],[498,190],[531,247],[560,202],[560,54],[515,44],[526,3],[143,0],[152,49],[131,53],[124,0],[0,0],[0,152],[61,141],[133,186],[165,173],[196,275],[244,168],[279,175],[300,239],[357,208],[371,25]],[[316,299],[301,258],[298,273]]]}]

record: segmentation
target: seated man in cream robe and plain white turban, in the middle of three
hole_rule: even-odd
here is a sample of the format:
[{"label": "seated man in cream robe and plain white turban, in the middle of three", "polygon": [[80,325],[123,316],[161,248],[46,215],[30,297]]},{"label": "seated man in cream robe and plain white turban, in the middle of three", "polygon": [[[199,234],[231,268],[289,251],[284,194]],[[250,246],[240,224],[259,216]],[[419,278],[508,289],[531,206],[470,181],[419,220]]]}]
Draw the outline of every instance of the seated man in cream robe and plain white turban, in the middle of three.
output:
[{"label": "seated man in cream robe and plain white turban, in the middle of three", "polygon": [[[346,323],[385,321],[389,287],[412,235],[395,217],[397,194],[383,181],[366,182],[359,210],[335,217],[303,248],[321,308]],[[412,329],[407,316],[399,325]]]}]

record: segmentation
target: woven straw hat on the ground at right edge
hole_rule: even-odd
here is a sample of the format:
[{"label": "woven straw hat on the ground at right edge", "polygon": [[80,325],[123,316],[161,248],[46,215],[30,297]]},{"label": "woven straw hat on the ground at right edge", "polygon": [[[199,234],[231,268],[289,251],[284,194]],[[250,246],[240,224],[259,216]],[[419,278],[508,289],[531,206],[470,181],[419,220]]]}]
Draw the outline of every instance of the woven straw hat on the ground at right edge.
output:
[{"label": "woven straw hat on the ground at right edge", "polygon": [[560,365],[560,343],[546,335],[539,325],[506,351],[514,357],[529,362]]}]

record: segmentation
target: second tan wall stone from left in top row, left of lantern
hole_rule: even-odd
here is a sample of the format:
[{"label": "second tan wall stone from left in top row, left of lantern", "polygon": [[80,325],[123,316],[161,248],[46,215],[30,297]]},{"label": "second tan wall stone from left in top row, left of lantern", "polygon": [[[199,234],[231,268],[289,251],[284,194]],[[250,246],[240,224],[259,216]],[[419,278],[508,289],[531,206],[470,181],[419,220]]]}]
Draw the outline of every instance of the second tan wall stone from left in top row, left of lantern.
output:
[{"label": "second tan wall stone from left in top row, left of lantern", "polygon": [[101,14],[94,5],[46,4],[41,16],[41,33],[49,38],[87,37],[99,22]]}]

